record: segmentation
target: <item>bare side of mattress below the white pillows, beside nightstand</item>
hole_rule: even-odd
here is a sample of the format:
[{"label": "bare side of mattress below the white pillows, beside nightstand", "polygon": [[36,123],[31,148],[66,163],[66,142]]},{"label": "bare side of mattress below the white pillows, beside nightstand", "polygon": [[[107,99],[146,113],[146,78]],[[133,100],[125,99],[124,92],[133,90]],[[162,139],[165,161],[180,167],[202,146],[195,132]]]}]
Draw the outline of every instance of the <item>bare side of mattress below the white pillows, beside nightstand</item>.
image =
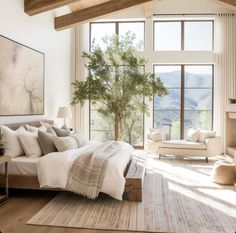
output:
[{"label": "bare side of mattress below the white pillows, beside nightstand", "polygon": [[[39,158],[19,156],[8,163],[8,175],[37,176],[37,162]],[[0,174],[4,174],[5,165],[0,165]]]}]

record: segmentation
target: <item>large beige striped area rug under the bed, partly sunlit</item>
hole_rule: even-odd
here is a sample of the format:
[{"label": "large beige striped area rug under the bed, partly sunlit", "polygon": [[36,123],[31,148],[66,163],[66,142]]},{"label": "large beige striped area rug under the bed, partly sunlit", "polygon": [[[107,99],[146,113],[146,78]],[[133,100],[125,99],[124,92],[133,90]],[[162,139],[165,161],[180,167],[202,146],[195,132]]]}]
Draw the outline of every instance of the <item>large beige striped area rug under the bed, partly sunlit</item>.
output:
[{"label": "large beige striped area rug under the bed, partly sunlit", "polygon": [[[236,187],[210,181],[213,162],[149,158],[142,203],[62,192],[28,224],[176,233],[234,233]],[[114,184],[115,185],[115,184]]]}]

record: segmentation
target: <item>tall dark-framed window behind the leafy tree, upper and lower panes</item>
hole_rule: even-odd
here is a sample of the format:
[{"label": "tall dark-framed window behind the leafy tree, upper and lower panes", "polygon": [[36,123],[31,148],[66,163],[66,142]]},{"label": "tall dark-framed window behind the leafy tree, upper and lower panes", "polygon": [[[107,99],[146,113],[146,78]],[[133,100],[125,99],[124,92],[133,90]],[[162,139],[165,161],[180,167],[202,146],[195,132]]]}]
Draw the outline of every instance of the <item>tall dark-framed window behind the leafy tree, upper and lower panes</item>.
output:
[{"label": "tall dark-framed window behind the leafy tree, upper and lower panes", "polygon": [[[139,51],[144,51],[144,22],[96,22],[90,24],[90,49],[92,43],[99,45],[102,49],[106,44],[102,41],[105,36],[117,34],[124,36],[127,32],[135,34],[133,45]],[[133,104],[139,104],[143,98],[134,100]],[[93,140],[114,140],[115,122],[114,117],[103,118],[97,111],[98,106],[90,104],[90,138]],[[144,116],[134,113],[125,120],[124,141],[131,142],[136,147],[143,147]]]}]

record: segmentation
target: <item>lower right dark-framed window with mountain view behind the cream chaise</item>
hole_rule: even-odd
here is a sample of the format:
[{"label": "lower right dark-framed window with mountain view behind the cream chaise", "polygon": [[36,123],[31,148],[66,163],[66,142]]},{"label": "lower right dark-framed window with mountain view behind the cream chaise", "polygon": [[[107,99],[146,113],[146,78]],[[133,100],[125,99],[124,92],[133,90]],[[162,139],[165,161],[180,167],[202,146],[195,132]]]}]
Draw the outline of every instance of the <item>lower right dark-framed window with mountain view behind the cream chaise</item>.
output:
[{"label": "lower right dark-framed window with mountain view behind the cream chaise", "polygon": [[154,98],[154,127],[168,139],[184,138],[188,128],[212,129],[213,66],[155,65],[169,94]]}]

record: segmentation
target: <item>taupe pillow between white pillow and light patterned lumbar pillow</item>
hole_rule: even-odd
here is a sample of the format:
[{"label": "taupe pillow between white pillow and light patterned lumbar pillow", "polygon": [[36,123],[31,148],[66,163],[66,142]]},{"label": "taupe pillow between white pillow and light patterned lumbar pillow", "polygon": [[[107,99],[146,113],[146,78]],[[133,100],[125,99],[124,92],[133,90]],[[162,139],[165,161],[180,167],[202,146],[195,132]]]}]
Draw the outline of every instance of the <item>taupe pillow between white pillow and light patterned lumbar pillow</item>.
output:
[{"label": "taupe pillow between white pillow and light patterned lumbar pillow", "polygon": [[54,145],[55,135],[39,130],[38,131],[38,140],[40,147],[44,154],[49,154],[56,152],[57,148]]}]

